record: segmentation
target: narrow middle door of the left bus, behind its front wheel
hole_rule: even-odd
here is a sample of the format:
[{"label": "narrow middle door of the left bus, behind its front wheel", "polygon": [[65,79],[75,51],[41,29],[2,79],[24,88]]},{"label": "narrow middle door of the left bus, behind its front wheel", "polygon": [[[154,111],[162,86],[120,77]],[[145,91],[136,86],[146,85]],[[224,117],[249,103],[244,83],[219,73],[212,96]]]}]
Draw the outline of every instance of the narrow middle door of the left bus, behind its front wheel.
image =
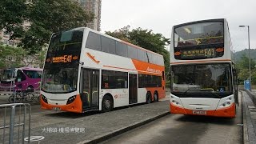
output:
[{"label": "narrow middle door of the left bus, behind its front wheel", "polygon": [[129,74],[129,104],[138,102],[137,74]]}]

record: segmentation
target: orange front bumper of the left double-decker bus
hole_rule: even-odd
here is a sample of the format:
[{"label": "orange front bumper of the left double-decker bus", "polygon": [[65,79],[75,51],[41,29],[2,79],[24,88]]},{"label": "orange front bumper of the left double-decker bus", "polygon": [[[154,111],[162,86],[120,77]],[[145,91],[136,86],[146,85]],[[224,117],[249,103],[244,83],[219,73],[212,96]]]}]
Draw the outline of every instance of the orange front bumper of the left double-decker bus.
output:
[{"label": "orange front bumper of the left double-decker bus", "polygon": [[76,95],[74,102],[71,102],[68,105],[50,105],[42,100],[42,96],[40,96],[41,108],[46,110],[63,110],[74,113],[82,113],[82,101],[80,95]]}]

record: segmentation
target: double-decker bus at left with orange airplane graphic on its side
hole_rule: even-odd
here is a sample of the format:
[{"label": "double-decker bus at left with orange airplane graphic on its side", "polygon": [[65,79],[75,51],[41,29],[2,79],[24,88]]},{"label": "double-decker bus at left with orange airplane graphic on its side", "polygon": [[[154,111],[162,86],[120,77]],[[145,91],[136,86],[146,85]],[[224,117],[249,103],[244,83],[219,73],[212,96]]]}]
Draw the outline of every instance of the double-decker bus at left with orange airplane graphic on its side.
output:
[{"label": "double-decker bus at left with orange airplane graphic on its side", "polygon": [[160,54],[86,27],[52,35],[42,76],[42,109],[82,113],[165,97]]}]

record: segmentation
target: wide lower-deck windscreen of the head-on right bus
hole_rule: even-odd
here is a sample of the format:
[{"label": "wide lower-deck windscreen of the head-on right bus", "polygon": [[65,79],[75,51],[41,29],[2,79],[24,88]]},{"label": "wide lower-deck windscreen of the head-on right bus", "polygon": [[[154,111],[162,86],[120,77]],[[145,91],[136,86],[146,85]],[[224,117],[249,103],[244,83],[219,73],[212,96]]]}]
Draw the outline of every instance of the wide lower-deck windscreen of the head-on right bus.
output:
[{"label": "wide lower-deck windscreen of the head-on right bus", "polygon": [[172,92],[218,92],[232,90],[229,64],[171,67]]}]

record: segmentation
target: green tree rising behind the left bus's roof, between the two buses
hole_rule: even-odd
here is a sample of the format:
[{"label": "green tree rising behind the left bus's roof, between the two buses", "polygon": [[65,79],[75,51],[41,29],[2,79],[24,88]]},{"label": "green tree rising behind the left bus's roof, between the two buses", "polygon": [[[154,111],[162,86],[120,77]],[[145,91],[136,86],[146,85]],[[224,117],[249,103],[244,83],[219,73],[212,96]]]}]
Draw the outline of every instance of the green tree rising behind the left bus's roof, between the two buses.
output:
[{"label": "green tree rising behind the left bus's roof, between the two buses", "polygon": [[162,54],[165,60],[166,76],[169,75],[170,58],[169,52],[165,49],[170,44],[169,38],[165,38],[162,34],[154,34],[153,30],[143,30],[141,27],[130,30],[130,26],[125,26],[114,32],[106,31],[106,34]]}]

